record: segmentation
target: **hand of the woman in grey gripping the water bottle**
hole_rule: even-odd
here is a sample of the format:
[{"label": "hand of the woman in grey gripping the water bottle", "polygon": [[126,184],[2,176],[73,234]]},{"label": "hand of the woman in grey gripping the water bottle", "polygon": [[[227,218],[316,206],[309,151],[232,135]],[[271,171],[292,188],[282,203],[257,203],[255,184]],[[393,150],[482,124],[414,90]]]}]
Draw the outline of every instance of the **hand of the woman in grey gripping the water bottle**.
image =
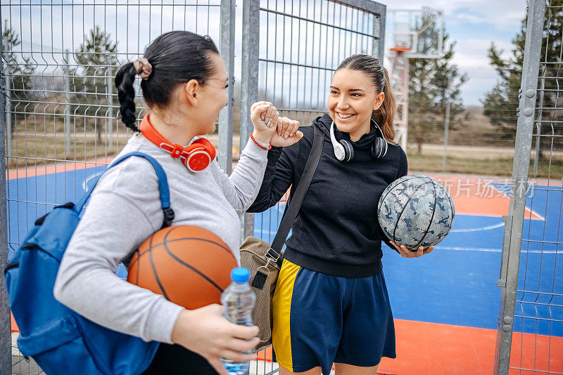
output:
[{"label": "hand of the woman in grey gripping the water bottle", "polygon": [[253,350],[260,339],[258,327],[233,324],[223,312],[217,304],[182,311],[172,329],[172,342],[202,355],[219,374],[227,375],[220,359],[251,361],[255,355],[241,352]]}]

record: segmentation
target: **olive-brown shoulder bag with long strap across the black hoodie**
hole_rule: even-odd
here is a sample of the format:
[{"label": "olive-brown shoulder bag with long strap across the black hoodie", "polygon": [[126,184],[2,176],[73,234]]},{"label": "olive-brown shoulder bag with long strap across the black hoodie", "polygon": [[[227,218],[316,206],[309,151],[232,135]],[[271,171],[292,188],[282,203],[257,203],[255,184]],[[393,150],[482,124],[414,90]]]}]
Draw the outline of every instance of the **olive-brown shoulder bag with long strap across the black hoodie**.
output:
[{"label": "olive-brown shoulder bag with long strap across the black hoodie", "polygon": [[317,126],[314,130],[307,164],[305,164],[303,175],[293,193],[293,197],[286,206],[274,242],[270,245],[262,239],[248,236],[241,246],[241,266],[251,271],[251,287],[256,294],[256,304],[252,312],[252,320],[260,328],[260,334],[258,334],[260,343],[256,346],[256,350],[272,345],[272,297],[276,289],[279,268],[284,259],[281,248],[286,242],[299,209],[301,209],[301,203],[303,203],[305,194],[309,189],[322,153],[324,135]]}]

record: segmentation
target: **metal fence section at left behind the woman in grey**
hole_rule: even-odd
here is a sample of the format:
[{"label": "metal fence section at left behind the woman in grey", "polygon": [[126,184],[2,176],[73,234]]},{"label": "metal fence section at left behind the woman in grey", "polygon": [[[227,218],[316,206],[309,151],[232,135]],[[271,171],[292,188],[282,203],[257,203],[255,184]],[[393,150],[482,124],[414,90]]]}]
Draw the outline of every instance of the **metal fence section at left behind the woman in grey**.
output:
[{"label": "metal fence section at left behind the woman in grey", "polygon": [[[234,77],[235,1],[3,1],[0,20],[0,153],[6,155],[1,158],[6,169],[1,166],[8,177],[7,184],[0,181],[7,187],[0,189],[6,192],[0,199],[0,261],[6,264],[34,218],[61,202],[76,202],[90,177],[84,169],[103,171],[127,142],[131,134],[118,121],[113,84],[120,65],[142,55],[158,35],[184,29],[210,35]],[[140,95],[137,102],[140,119],[146,109]],[[221,112],[215,137],[228,172],[233,105],[229,100]],[[13,362],[13,373],[36,374],[37,366],[15,346],[4,281],[0,284],[0,373],[8,374]]]}]

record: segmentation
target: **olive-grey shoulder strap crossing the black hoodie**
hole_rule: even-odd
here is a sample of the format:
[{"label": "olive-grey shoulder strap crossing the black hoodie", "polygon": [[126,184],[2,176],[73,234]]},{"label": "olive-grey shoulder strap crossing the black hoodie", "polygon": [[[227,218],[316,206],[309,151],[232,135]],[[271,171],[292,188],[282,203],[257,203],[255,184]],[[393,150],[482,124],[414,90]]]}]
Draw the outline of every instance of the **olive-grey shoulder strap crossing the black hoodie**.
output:
[{"label": "olive-grey shoulder strap crossing the black hoodie", "polygon": [[313,125],[313,128],[315,133],[313,133],[312,147],[307,159],[307,164],[305,164],[305,169],[303,169],[301,180],[299,180],[299,183],[297,184],[293,197],[291,197],[291,201],[286,207],[284,217],[281,218],[281,223],[279,224],[272,246],[270,246],[270,250],[268,250],[266,254],[266,256],[270,256],[270,258],[274,261],[279,260],[281,247],[284,246],[287,235],[289,235],[289,230],[291,230],[291,225],[293,225],[293,221],[297,218],[303,199],[305,199],[305,194],[307,194],[307,190],[309,190],[312,176],[315,174],[315,170],[317,169],[317,165],[319,164],[319,160],[321,158],[324,134],[318,126]]}]

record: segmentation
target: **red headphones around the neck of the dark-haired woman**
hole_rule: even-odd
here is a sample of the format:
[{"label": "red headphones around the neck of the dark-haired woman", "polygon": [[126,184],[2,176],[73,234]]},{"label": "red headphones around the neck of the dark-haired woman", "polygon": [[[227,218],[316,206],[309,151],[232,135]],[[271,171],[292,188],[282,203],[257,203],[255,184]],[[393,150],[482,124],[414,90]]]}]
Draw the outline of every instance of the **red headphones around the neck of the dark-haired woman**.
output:
[{"label": "red headphones around the neck of the dark-haired woman", "polygon": [[170,156],[182,160],[184,166],[192,172],[203,171],[215,159],[215,146],[205,138],[194,140],[188,147],[170,143],[154,129],[148,114],[141,121],[139,130],[146,139],[158,147],[170,152]]}]

